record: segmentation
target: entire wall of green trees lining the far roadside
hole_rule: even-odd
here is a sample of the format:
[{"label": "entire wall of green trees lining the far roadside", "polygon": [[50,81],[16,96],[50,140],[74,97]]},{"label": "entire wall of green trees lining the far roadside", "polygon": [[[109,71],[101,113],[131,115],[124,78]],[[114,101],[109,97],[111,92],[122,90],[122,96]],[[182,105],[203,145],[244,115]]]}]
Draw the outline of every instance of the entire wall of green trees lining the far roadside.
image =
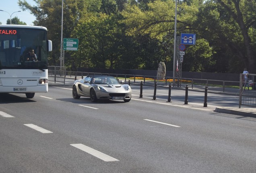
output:
[{"label": "entire wall of green trees lining the far roadside", "polygon": [[[23,10],[48,28],[53,41],[51,65],[59,64],[62,0],[35,0]],[[78,38],[78,51],[65,51],[65,65],[173,70],[173,36],[196,34],[187,46],[182,70],[256,73],[255,0],[64,0],[63,38]]]}]

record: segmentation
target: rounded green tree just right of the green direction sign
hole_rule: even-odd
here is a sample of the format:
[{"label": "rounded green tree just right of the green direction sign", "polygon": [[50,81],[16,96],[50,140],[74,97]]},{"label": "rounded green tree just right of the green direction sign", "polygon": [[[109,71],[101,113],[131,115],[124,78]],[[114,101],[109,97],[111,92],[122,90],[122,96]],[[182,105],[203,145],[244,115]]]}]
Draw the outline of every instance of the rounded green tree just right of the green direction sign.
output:
[{"label": "rounded green tree just right of the green direction sign", "polygon": [[120,58],[120,32],[115,16],[104,13],[78,25],[73,36],[82,42],[79,51],[73,55],[81,57],[76,65],[114,68]]}]

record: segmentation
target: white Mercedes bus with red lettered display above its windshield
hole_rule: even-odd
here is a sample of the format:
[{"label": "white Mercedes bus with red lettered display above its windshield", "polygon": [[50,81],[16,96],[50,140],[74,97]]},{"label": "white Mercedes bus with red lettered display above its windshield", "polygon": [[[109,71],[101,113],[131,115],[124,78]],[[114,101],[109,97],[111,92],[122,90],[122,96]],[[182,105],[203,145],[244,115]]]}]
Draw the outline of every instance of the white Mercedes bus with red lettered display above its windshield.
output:
[{"label": "white Mercedes bus with red lettered display above its windshield", "polygon": [[48,51],[45,27],[0,25],[0,93],[47,93]]}]

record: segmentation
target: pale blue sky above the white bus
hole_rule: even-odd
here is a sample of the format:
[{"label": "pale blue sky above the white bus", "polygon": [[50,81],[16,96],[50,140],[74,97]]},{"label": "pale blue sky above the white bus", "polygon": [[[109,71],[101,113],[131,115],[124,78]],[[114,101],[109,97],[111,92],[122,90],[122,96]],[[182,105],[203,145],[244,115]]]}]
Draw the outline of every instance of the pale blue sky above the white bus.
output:
[{"label": "pale blue sky above the white bus", "polygon": [[[26,0],[31,6],[35,6],[35,2],[33,0]],[[17,16],[21,22],[26,22],[27,25],[33,25],[33,21],[35,20],[35,16],[30,14],[28,10],[23,11],[18,5],[18,0],[0,0],[0,10],[4,10],[7,12],[0,11],[0,22],[2,24],[6,24],[7,19],[10,19],[10,15],[12,14],[12,18]],[[17,12],[21,11],[21,12]]]}]

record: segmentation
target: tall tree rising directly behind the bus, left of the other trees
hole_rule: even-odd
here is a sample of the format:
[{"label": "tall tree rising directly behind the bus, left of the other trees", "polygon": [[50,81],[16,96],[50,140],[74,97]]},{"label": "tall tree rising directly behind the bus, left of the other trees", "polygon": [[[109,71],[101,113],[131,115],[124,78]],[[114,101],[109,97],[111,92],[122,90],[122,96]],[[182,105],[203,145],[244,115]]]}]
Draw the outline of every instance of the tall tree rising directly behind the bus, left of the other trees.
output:
[{"label": "tall tree rising directly behind the bus, left of the other trees", "polygon": [[[48,38],[53,42],[52,58],[49,63],[52,65],[59,64],[61,26],[62,26],[62,0],[34,0],[37,6],[31,6],[26,0],[19,0],[19,6],[22,10],[29,10],[36,17],[33,24],[45,26],[48,28]],[[63,38],[70,38],[74,28],[78,25],[79,20],[89,16],[87,8],[98,8],[97,0],[64,0],[63,7]],[[89,9],[89,8],[88,8]]]}]

